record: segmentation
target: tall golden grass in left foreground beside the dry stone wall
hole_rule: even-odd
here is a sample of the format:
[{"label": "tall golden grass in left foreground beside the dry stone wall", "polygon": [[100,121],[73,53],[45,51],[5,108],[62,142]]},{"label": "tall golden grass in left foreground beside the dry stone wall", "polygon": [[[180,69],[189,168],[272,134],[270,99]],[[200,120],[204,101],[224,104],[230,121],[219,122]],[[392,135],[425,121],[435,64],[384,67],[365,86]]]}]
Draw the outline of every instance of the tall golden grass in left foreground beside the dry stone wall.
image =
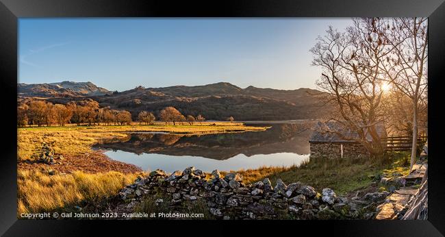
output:
[{"label": "tall golden grass in left foreground beside the dry stone wall", "polygon": [[88,174],[76,171],[71,175],[48,175],[40,171],[18,171],[18,215],[60,210],[79,205],[82,201],[97,201],[131,184],[138,174],[115,171]]}]

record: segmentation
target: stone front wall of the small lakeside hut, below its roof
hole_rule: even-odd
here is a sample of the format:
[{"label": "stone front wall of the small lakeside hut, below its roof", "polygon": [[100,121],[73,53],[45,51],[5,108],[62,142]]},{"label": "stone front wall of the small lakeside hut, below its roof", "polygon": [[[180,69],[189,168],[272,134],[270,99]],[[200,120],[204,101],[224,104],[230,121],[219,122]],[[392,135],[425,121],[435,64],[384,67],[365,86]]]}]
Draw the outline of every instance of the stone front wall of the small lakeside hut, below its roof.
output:
[{"label": "stone front wall of the small lakeside hut, below its roof", "polygon": [[341,145],[343,145],[343,158],[368,158],[369,153],[363,145],[358,143],[330,143],[311,142],[311,158],[341,158]]}]

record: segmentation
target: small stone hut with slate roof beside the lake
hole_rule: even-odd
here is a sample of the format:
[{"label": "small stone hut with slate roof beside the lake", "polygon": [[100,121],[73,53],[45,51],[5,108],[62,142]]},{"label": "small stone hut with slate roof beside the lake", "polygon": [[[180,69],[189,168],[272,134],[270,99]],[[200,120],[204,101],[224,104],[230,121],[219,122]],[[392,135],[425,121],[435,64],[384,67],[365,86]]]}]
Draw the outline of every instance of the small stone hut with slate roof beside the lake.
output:
[{"label": "small stone hut with slate roof beside the lake", "polygon": [[[387,136],[386,129],[383,124],[376,125],[377,133],[380,138]],[[359,142],[353,140],[358,138],[356,132],[351,129],[343,128],[339,123],[318,122],[314,127],[309,145],[311,150],[311,158],[368,158],[369,153],[366,148]],[[371,140],[370,134],[366,139]]]}]

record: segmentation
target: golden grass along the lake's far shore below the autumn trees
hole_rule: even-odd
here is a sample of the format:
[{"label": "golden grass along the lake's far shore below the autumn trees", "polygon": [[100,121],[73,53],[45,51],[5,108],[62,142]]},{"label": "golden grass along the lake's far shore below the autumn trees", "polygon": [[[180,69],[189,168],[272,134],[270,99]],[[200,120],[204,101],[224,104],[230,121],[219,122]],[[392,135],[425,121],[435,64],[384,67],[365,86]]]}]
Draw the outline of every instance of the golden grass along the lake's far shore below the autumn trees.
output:
[{"label": "golden grass along the lake's far shore below the autumn trees", "polygon": [[51,144],[57,154],[79,155],[91,151],[92,145],[103,138],[125,138],[127,132],[168,132],[171,134],[218,134],[229,132],[264,131],[268,127],[244,126],[242,123],[218,122],[212,125],[123,125],[123,126],[65,126],[25,127],[18,129],[18,160],[33,160],[42,142]]}]

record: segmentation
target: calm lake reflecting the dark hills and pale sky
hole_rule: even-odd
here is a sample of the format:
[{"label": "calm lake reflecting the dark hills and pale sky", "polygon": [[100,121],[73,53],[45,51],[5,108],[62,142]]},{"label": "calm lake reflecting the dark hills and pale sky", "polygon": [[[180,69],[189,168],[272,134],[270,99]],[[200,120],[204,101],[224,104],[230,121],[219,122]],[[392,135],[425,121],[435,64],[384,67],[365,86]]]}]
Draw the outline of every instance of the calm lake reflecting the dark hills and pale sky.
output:
[{"label": "calm lake reflecting the dark hills and pale sky", "polygon": [[[249,125],[249,124],[247,124]],[[133,133],[125,139],[103,140],[94,149],[144,171],[167,172],[195,166],[203,171],[236,171],[261,166],[300,165],[309,159],[309,135],[303,122],[251,124],[272,126],[264,132],[177,136]]]}]

